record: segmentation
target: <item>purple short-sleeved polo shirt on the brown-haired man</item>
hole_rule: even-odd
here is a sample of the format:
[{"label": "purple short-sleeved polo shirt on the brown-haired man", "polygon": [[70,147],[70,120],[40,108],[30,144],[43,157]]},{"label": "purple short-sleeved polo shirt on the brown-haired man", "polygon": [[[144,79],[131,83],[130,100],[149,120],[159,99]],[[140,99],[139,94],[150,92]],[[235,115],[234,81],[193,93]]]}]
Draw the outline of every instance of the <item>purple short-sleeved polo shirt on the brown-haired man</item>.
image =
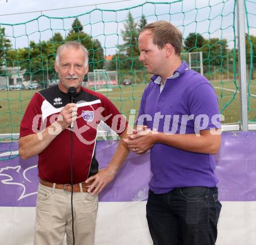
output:
[{"label": "purple short-sleeved polo shirt on the brown-haired man", "polygon": [[[186,62],[173,74],[161,93],[160,77],[152,76],[141,98],[137,124],[166,134],[199,134],[200,130],[221,128],[218,98],[209,81],[190,70]],[[156,143],[150,160],[153,175],[149,186],[154,193],[187,186],[214,187],[218,183],[211,154]]]}]

